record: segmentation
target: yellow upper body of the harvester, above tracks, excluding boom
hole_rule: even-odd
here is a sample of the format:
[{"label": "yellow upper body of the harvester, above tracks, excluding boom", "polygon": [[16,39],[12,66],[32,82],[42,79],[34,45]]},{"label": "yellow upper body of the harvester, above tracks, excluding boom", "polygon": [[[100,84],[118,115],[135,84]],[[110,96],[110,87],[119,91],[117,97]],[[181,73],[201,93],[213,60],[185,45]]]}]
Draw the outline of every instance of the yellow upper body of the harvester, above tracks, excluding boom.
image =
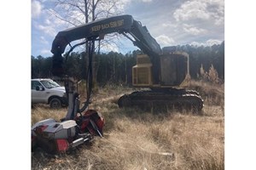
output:
[{"label": "yellow upper body of the harvester, above tracks, excluding boom", "polygon": [[152,63],[146,54],[137,55],[132,67],[132,85],[144,88],[185,88],[189,86],[189,55],[173,52],[160,56],[160,82],[154,83]]}]

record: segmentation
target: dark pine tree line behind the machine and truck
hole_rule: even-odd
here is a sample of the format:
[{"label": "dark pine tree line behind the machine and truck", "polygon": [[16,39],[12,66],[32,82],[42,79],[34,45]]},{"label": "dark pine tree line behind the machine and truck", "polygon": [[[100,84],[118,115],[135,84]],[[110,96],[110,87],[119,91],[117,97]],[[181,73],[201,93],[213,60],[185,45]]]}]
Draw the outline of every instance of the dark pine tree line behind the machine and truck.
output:
[{"label": "dark pine tree line behind the machine and truck", "polygon": [[[221,82],[224,82],[224,42],[212,46],[181,45],[176,47],[189,54],[189,73],[191,78],[201,78],[201,70],[209,71],[214,67]],[[134,50],[127,54],[116,52],[98,53],[94,55],[94,74],[98,84],[107,82],[131,84],[131,69],[136,65],[137,54]],[[65,56],[65,55],[64,55]],[[70,77],[78,80],[86,79],[88,59],[84,52],[73,52],[67,59],[66,69]],[[32,56],[32,78],[52,77],[51,57]]]}]

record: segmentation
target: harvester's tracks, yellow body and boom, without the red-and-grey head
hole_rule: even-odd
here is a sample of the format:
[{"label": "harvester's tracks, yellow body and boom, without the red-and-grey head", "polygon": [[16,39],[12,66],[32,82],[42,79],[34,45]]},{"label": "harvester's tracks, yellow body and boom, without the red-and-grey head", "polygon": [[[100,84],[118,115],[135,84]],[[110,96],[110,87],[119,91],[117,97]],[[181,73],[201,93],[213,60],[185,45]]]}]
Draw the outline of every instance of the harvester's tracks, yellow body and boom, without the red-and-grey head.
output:
[{"label": "harvester's tracks, yellow body and boom, without the red-and-grey head", "polygon": [[[132,68],[132,84],[137,88],[150,89],[125,94],[118,101],[119,107],[169,107],[201,111],[201,96],[193,90],[186,89],[190,80],[189,55],[177,51],[175,47],[160,48],[147,27],[128,14],[60,31],[51,49],[54,54],[53,73],[56,76],[64,73],[61,54],[64,53],[67,44],[82,38],[85,38],[84,43],[94,44],[106,34],[113,32],[124,35],[143,51],[143,54],[137,55],[137,65]],[[77,45],[81,44],[83,42]]]}]

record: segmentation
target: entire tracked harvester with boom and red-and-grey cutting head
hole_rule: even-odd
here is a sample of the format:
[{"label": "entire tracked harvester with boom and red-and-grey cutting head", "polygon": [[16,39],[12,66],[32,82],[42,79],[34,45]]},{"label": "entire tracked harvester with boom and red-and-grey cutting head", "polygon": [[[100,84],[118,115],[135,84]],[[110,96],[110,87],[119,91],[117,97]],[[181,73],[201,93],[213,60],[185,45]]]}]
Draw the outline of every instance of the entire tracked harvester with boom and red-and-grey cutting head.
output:
[{"label": "entire tracked harvester with boom and red-and-grey cutting head", "polygon": [[[32,146],[48,148],[50,152],[65,151],[83,144],[94,135],[102,136],[102,116],[88,108],[92,86],[92,57],[95,41],[113,32],[124,35],[143,51],[143,54],[137,55],[137,65],[132,68],[132,84],[137,88],[148,89],[123,95],[118,100],[119,107],[169,107],[201,111],[201,96],[186,89],[190,79],[189,55],[177,51],[175,47],[160,48],[147,27],[131,15],[113,16],[60,31],[56,35],[51,48],[52,74],[65,82],[67,116],[61,122],[47,119],[32,126]],[[84,41],[71,46],[71,42],[81,39]],[[89,57],[87,99],[80,108],[79,94],[74,88],[72,77],[68,76],[65,64],[73,49],[84,43],[87,43]],[[64,58],[62,54],[67,45],[71,48]]]}]

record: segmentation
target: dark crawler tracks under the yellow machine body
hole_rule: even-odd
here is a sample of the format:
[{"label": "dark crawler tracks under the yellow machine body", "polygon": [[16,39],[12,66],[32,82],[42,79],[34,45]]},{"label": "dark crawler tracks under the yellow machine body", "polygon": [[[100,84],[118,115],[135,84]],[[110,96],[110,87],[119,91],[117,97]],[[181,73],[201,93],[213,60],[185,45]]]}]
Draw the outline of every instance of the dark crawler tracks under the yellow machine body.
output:
[{"label": "dark crawler tracks under the yellow machine body", "polygon": [[125,94],[119,98],[119,107],[134,107],[141,109],[163,110],[192,110],[201,111],[203,108],[203,99],[194,90],[185,89],[154,89],[136,91],[131,94]]}]

